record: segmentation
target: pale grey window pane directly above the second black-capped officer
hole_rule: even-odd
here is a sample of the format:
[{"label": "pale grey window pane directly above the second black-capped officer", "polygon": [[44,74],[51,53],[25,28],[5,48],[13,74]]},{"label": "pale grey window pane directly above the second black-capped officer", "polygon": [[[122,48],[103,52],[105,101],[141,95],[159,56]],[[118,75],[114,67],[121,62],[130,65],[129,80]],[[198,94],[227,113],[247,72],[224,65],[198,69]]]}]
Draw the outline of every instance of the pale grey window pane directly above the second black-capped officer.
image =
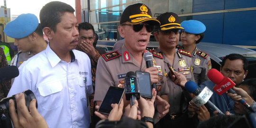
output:
[{"label": "pale grey window pane directly above the second black-capped officer", "polygon": [[176,14],[187,14],[193,11],[193,0],[169,0],[169,11]]}]

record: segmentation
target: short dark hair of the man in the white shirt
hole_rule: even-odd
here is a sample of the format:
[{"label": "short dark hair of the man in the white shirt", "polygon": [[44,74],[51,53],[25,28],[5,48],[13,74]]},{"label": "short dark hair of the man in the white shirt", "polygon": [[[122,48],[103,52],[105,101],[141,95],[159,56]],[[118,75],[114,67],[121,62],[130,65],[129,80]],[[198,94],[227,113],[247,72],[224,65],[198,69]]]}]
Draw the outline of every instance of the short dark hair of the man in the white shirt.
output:
[{"label": "short dark hair of the man in the white shirt", "polygon": [[39,17],[42,28],[50,27],[55,32],[56,25],[61,22],[61,17],[65,12],[74,12],[74,9],[70,5],[60,1],[47,3],[40,10]]}]

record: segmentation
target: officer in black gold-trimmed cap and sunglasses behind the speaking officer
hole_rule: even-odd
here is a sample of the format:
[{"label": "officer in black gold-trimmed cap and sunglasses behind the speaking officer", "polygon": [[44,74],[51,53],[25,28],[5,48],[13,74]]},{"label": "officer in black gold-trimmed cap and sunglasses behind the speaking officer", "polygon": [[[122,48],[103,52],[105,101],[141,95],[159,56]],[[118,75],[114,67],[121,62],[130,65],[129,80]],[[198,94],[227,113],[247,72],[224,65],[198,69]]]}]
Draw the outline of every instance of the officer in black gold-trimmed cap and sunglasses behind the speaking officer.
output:
[{"label": "officer in black gold-trimmed cap and sunglasses behind the speaking officer", "polygon": [[[161,53],[165,61],[165,75],[170,75],[170,70],[167,64],[170,64],[174,71],[183,74],[186,79],[194,81],[193,73],[191,72],[191,54],[182,49],[176,49],[180,39],[180,19],[173,12],[161,14],[156,19],[161,23],[160,27],[155,27],[154,36],[156,41],[159,41],[159,48],[155,52]],[[154,54],[153,54],[154,55]],[[184,120],[187,120],[186,113],[188,100],[186,99],[187,91],[183,87],[174,84],[170,77],[167,77],[167,83],[170,90],[169,98],[169,114],[160,120],[161,128],[183,128]]]}]

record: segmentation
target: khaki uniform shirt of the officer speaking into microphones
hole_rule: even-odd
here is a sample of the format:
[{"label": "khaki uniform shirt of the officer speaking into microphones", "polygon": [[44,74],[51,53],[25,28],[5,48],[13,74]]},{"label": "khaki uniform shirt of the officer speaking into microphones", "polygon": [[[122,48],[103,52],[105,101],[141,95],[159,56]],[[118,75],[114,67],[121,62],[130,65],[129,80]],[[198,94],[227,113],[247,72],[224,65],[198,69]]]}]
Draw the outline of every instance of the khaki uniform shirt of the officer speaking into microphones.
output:
[{"label": "khaki uniform shirt of the officer speaking into microphones", "polygon": [[[95,82],[94,101],[102,101],[110,86],[124,88],[124,79],[126,73],[133,71],[144,71],[146,62],[143,59],[142,64],[137,63],[133,56],[129,54],[127,48],[123,45],[117,51],[102,55],[98,60]],[[106,61],[105,58],[108,60]],[[164,69],[164,61],[161,58],[154,57],[157,65]],[[161,86],[159,85],[161,83]],[[166,77],[159,80],[157,85],[158,95],[169,93]],[[161,89],[161,90],[160,90]]]}]

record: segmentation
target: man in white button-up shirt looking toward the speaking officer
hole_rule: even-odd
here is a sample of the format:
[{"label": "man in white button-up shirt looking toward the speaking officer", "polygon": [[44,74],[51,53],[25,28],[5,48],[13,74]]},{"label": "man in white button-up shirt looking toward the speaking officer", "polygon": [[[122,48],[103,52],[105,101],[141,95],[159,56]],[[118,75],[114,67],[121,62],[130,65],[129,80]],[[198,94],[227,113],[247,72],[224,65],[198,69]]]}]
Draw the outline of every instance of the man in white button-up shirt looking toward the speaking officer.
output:
[{"label": "man in white button-up shirt looking toward the speaking officer", "polygon": [[19,67],[9,96],[31,90],[37,110],[49,128],[89,128],[86,94],[93,92],[91,62],[83,52],[74,50],[79,40],[74,9],[63,2],[47,3],[40,21],[49,39],[46,50]]}]

